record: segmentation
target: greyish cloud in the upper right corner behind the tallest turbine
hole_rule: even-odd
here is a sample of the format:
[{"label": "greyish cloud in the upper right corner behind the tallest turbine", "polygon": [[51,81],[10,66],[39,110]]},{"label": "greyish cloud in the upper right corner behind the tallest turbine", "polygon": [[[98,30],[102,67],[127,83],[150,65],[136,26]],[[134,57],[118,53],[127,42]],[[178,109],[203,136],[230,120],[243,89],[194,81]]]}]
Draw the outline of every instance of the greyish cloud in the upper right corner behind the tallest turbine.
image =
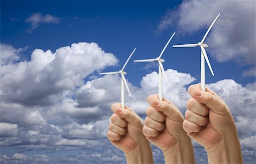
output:
[{"label": "greyish cloud in the upper right corner behind the tallest turbine", "polygon": [[158,30],[177,26],[180,33],[206,31],[219,12],[221,15],[205,41],[210,55],[218,62],[236,60],[241,65],[255,66],[254,1],[183,1],[166,12]]}]

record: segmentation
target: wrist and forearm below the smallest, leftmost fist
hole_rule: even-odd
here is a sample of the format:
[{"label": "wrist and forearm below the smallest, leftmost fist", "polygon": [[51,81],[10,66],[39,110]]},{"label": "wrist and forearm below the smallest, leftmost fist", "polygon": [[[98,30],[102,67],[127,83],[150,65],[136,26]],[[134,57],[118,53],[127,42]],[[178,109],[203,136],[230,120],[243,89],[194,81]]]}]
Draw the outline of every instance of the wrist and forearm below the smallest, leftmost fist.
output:
[{"label": "wrist and forearm below the smallest, leftmost fist", "polygon": [[147,140],[140,142],[135,149],[127,152],[125,155],[127,164],[154,163],[151,146]]}]

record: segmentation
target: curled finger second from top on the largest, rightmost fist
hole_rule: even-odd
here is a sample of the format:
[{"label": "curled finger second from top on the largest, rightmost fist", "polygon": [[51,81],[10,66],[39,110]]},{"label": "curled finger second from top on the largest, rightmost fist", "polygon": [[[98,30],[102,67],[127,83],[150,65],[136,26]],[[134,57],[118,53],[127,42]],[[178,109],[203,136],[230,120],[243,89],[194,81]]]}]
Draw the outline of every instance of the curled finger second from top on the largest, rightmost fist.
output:
[{"label": "curled finger second from top on the largest, rightmost fist", "polygon": [[197,115],[207,116],[209,113],[209,108],[198,102],[195,98],[190,98],[187,103],[188,109],[192,112],[196,113]]}]

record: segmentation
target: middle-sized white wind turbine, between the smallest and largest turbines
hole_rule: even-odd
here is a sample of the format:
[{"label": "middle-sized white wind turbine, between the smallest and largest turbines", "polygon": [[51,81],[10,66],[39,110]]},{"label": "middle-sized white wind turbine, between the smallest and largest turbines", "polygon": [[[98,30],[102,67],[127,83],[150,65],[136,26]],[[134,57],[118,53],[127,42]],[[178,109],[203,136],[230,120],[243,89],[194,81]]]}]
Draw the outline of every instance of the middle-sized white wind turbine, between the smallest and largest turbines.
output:
[{"label": "middle-sized white wind turbine, between the smallest and largest turbines", "polygon": [[164,51],[167,48],[167,45],[170,43],[170,41],[172,40],[172,37],[174,37],[174,34],[172,34],[172,36],[170,37],[170,39],[167,41],[166,45],[164,46],[162,52],[160,53],[159,57],[156,58],[150,58],[150,59],[144,59],[144,60],[134,60],[134,62],[153,62],[153,61],[157,61],[158,62],[158,97],[160,100],[163,100],[163,87],[162,87],[162,73],[164,75],[164,78],[166,78],[166,82],[167,85],[170,86],[170,83],[168,82],[166,73],[164,72],[164,68],[163,68],[163,64],[162,62],[164,62],[164,60],[161,58]]}]

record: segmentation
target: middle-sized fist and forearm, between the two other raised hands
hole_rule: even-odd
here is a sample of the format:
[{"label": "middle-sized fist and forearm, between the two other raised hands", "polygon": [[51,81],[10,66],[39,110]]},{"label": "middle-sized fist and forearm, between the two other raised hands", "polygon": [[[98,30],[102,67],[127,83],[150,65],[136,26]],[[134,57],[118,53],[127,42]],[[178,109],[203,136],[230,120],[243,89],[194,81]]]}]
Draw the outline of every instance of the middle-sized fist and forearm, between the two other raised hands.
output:
[{"label": "middle-sized fist and forearm, between the two other raised hands", "polygon": [[169,100],[159,100],[158,95],[147,98],[150,107],[143,134],[158,146],[166,163],[195,163],[191,138],[183,130],[184,117]]}]

